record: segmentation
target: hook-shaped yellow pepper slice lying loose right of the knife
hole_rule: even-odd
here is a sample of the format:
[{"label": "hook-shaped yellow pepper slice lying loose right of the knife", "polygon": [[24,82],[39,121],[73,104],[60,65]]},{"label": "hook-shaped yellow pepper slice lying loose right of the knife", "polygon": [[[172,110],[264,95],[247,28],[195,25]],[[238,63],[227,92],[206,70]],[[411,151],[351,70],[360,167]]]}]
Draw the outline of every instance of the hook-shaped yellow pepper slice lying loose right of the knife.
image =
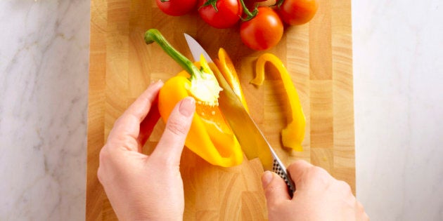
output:
[{"label": "hook-shaped yellow pepper slice lying loose right of the knife", "polygon": [[290,115],[287,119],[288,125],[281,130],[283,146],[290,147],[296,151],[302,151],[302,141],[304,139],[306,119],[304,118],[304,113],[302,105],[300,104],[300,98],[298,98],[297,90],[295,89],[293,81],[290,79],[288,71],[286,70],[285,65],[283,65],[283,62],[281,62],[276,55],[264,53],[257,60],[257,64],[255,65],[257,75],[255,76],[255,79],[250,81],[250,83],[257,86],[262,85],[264,81],[264,65],[266,62],[271,62],[271,64],[278,69],[286,94],[288,95]]}]

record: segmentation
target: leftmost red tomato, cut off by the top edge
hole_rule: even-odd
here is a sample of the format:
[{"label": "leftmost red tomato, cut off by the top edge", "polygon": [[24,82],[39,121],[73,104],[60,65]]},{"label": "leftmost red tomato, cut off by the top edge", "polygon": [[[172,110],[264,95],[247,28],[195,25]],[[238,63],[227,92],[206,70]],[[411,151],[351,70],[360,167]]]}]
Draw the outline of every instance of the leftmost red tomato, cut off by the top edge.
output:
[{"label": "leftmost red tomato, cut off by the top edge", "polygon": [[197,0],[156,0],[157,6],[167,15],[181,16],[191,12]]}]

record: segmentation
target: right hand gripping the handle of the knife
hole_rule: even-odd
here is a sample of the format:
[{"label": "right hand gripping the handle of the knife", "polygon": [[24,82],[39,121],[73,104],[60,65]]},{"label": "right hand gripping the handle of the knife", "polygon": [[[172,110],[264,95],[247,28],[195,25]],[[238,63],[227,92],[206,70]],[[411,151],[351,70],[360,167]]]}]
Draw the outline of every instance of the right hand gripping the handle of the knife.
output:
[{"label": "right hand gripping the handle of the knife", "polygon": [[369,220],[349,185],[307,161],[288,167],[295,183],[293,199],[276,173],[262,175],[269,220]]}]

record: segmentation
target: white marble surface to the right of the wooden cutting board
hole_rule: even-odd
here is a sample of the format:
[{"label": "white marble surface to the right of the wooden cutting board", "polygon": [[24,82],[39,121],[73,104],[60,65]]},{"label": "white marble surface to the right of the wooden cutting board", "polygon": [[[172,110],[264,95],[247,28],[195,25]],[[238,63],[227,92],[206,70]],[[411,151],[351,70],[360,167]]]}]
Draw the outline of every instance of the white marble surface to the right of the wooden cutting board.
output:
[{"label": "white marble surface to the right of the wooden cutting board", "polygon": [[443,1],[352,1],[357,197],[443,220]]}]

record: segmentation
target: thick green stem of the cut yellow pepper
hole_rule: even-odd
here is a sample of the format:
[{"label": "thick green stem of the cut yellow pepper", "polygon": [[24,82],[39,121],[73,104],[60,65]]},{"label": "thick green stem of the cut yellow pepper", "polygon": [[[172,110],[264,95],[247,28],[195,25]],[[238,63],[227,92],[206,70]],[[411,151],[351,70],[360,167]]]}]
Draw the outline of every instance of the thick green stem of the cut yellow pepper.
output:
[{"label": "thick green stem of the cut yellow pepper", "polygon": [[175,48],[171,46],[171,44],[165,39],[165,37],[158,31],[158,29],[149,29],[145,33],[145,42],[147,44],[157,42],[158,45],[165,51],[169,57],[174,59],[179,65],[186,70],[189,74],[191,74],[191,79],[201,78],[203,73],[200,72],[200,69],[195,67],[193,62],[186,58],[184,55],[176,51]]}]

